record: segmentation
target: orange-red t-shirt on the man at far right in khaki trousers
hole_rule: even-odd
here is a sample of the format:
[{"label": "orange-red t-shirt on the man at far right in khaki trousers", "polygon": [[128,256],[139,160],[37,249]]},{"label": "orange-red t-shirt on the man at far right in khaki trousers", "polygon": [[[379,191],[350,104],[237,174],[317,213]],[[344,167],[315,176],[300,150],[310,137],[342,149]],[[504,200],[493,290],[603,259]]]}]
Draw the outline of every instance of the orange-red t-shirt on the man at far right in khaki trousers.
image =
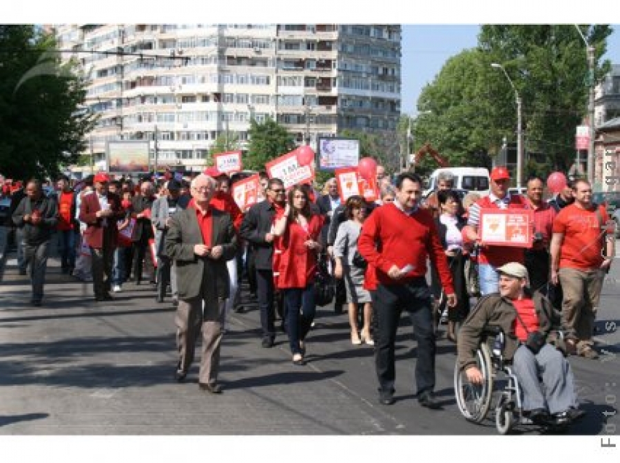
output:
[{"label": "orange-red t-shirt on the man at far right in khaki trousers", "polygon": [[[607,217],[604,206],[599,206],[601,218]],[[564,234],[560,247],[559,268],[591,270],[603,263],[603,233],[596,209],[581,209],[575,204],[561,209],[553,221],[553,233]]]}]

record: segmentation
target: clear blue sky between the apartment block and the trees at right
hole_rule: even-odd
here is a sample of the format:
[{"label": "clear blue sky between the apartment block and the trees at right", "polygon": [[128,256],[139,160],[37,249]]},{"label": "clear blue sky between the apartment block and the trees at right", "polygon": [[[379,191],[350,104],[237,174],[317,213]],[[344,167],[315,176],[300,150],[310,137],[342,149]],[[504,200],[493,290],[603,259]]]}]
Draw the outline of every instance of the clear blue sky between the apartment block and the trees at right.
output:
[{"label": "clear blue sky between the apartment block and the trees at right", "polygon": [[[604,59],[620,64],[620,25],[607,39]],[[432,83],[446,61],[477,45],[479,25],[405,24],[402,28],[402,112],[416,114],[416,103],[427,83]],[[577,34],[577,30],[575,30]],[[583,53],[586,59],[586,53]]]}]

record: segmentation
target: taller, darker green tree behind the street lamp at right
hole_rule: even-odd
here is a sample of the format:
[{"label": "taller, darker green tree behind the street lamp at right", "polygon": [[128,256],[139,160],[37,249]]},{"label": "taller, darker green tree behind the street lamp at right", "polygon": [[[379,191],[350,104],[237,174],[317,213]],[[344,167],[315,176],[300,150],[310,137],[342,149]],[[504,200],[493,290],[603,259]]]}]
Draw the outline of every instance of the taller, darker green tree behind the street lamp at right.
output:
[{"label": "taller, darker green tree behind the street lamp at right", "polygon": [[[580,29],[595,46],[598,63],[612,28],[584,25]],[[479,46],[493,62],[504,65],[523,101],[525,149],[539,154],[537,159],[542,161],[530,160],[527,167],[539,174],[555,169],[566,172],[575,158],[575,127],[588,114],[590,83],[586,47],[575,25],[484,25]],[[595,81],[599,81],[610,63],[603,61],[595,68]],[[515,127],[515,106],[510,105],[514,92],[501,74],[493,78],[494,99],[508,110],[504,118],[508,127]]]}]

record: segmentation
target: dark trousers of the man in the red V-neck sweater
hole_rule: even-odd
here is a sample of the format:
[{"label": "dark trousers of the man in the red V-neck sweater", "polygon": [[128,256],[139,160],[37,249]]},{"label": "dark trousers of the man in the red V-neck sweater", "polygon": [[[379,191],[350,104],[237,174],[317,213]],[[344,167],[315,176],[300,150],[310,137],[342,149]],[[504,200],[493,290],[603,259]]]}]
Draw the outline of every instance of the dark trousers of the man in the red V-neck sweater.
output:
[{"label": "dark trousers of the man in the red V-neck sweater", "polygon": [[415,384],[417,393],[435,389],[435,330],[431,313],[433,295],[424,277],[409,284],[378,285],[372,291],[375,316],[375,369],[381,391],[394,392],[395,342],[402,311],[409,312],[417,340]]}]

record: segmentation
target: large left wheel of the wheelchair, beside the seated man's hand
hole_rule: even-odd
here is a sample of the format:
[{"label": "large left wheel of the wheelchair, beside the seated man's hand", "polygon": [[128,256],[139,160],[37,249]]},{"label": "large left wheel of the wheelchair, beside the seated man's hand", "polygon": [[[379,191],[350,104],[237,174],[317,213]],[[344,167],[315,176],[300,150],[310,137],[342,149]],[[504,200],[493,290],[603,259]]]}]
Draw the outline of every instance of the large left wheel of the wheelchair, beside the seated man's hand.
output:
[{"label": "large left wheel of the wheelchair, beside the seated man's hand", "polygon": [[454,369],[454,389],[457,406],[465,419],[481,423],[486,418],[493,397],[493,367],[488,346],[484,342],[476,351],[476,366],[482,372],[482,384],[471,384],[457,362]]}]

